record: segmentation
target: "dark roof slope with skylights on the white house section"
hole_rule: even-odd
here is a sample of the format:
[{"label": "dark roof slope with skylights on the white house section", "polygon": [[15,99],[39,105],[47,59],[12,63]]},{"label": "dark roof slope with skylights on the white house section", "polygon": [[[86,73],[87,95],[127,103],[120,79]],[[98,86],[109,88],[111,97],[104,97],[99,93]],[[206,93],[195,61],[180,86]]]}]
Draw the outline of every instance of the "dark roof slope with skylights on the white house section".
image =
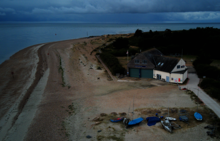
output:
[{"label": "dark roof slope with skylights on the white house section", "polygon": [[167,57],[167,56],[155,56],[156,62],[155,70],[171,72],[180,59]]}]

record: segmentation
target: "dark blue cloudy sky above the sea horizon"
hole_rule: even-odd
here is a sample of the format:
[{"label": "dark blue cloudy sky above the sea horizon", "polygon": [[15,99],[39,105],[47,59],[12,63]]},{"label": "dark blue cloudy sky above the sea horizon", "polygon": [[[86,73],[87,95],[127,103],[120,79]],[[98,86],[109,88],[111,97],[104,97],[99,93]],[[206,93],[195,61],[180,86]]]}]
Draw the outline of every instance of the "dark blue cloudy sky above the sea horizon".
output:
[{"label": "dark blue cloudy sky above the sea horizon", "polygon": [[220,0],[0,0],[0,22],[220,22]]}]

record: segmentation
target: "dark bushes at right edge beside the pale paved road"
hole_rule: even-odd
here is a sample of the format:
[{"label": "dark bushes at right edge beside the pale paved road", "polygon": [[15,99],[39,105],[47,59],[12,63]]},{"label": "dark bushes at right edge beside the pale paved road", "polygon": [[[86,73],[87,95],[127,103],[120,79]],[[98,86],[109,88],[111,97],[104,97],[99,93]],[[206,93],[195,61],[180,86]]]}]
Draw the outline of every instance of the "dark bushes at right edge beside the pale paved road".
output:
[{"label": "dark bushes at right edge beside the pale paved road", "polygon": [[210,58],[205,54],[199,55],[193,65],[200,78],[205,76],[199,86],[211,97],[220,100],[220,69],[210,65],[212,63]]}]

